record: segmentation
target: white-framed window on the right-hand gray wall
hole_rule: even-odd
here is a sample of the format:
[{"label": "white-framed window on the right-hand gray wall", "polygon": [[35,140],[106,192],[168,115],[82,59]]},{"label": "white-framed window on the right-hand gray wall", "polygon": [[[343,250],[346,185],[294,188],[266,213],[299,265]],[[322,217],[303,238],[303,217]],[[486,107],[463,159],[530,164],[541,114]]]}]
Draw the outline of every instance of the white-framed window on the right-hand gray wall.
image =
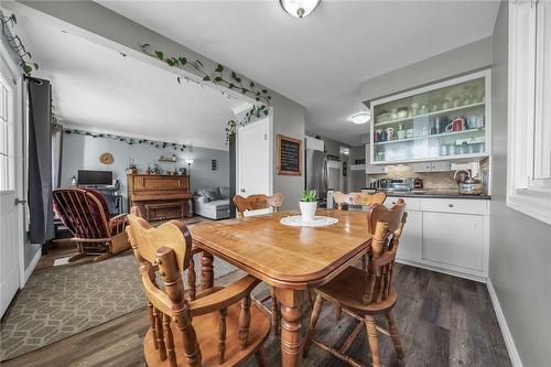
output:
[{"label": "white-framed window on the right-hand gray wall", "polygon": [[551,224],[551,2],[509,3],[507,205]]}]

